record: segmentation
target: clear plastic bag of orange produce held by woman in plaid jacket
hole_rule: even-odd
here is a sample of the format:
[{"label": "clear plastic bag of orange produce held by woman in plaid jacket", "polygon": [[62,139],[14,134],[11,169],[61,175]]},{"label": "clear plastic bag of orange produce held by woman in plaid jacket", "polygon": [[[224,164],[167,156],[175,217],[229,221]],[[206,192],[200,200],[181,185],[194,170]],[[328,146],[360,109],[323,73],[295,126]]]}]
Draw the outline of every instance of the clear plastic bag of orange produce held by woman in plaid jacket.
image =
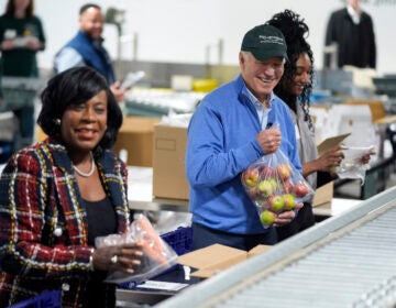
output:
[{"label": "clear plastic bag of orange produce held by woman in plaid jacket", "polygon": [[96,246],[120,245],[125,243],[141,243],[143,256],[141,264],[133,268],[133,273],[120,271],[109,272],[106,282],[144,282],[177,264],[177,253],[158,235],[148,219],[140,215],[130,224],[124,234],[110,234],[108,237],[97,238]]}]

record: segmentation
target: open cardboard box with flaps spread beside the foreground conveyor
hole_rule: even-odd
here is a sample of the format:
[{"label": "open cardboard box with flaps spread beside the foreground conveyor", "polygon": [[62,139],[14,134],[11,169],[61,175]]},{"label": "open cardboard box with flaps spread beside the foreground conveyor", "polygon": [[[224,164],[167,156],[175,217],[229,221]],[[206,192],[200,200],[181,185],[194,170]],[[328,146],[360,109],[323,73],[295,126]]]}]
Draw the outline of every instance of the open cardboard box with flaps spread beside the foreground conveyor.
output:
[{"label": "open cardboard box with flaps spread beside the foreground conveyor", "polygon": [[213,244],[180,255],[179,263],[197,268],[197,271],[193,272],[191,276],[208,278],[220,271],[224,271],[249,257],[261,254],[271,248],[270,245],[257,245],[251,251],[245,252],[221,244]]}]

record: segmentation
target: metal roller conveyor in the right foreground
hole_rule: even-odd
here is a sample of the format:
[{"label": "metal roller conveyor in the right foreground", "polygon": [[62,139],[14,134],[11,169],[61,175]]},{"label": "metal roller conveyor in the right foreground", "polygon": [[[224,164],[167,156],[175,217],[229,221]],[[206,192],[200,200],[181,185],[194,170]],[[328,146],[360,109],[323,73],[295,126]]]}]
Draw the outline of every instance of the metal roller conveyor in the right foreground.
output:
[{"label": "metal roller conveyor in the right foreground", "polygon": [[396,188],[157,307],[396,307]]}]

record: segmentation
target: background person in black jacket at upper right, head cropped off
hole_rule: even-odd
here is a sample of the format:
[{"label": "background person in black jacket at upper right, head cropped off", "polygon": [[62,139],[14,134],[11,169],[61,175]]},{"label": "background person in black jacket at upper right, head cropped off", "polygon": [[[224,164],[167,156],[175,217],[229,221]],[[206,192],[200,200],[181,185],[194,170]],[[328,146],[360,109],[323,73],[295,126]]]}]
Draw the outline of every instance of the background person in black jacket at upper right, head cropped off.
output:
[{"label": "background person in black jacket at upper right, head cropped off", "polygon": [[[338,67],[353,65],[375,68],[376,46],[372,18],[360,8],[361,0],[346,0],[346,8],[331,13],[324,45],[337,43]],[[324,56],[324,67],[330,67],[330,55]]]}]

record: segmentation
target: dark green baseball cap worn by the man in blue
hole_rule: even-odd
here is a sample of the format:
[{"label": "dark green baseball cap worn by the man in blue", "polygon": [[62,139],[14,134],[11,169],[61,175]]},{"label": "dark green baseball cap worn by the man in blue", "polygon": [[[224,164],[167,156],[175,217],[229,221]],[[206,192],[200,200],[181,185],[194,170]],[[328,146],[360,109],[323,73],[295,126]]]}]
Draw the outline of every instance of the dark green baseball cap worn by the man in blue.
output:
[{"label": "dark green baseball cap worn by the man in blue", "polygon": [[243,36],[241,51],[251,52],[258,61],[283,57],[288,61],[287,45],[280,30],[271,24],[261,24]]}]

